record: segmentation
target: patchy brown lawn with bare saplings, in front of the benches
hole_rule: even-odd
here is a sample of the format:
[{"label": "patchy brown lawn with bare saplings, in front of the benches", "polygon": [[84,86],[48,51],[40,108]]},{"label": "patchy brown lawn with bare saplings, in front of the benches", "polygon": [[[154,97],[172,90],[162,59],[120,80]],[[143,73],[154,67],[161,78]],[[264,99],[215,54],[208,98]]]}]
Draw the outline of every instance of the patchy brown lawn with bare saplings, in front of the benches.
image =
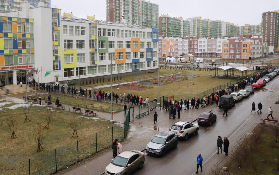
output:
[{"label": "patchy brown lawn with bare saplings, in front of the benches", "polygon": [[[30,158],[31,174],[51,174],[55,172],[55,149],[57,149],[58,169],[65,168],[77,161],[77,140],[79,160],[90,156],[111,145],[112,127],[114,138],[124,139],[124,129],[119,124],[111,124],[107,120],[88,117],[80,114],[52,108],[53,117],[49,128],[45,128],[43,151],[37,152],[33,127],[37,124],[47,124],[45,115],[47,108],[29,104],[29,119],[24,123],[23,108],[26,104],[14,97],[0,99],[0,174],[28,174],[28,158]],[[3,112],[5,111],[5,112]],[[17,138],[11,139],[7,119],[9,115],[17,118]],[[69,122],[76,119],[78,137],[72,137],[73,130]]]}]

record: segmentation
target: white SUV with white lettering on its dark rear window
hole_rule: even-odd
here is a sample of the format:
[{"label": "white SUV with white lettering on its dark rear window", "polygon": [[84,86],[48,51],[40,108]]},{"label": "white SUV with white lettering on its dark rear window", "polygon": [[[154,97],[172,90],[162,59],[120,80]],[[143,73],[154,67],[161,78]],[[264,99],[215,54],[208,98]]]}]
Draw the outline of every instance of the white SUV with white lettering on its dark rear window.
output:
[{"label": "white SUV with white lettering on its dark rear window", "polygon": [[187,140],[190,134],[198,134],[198,129],[199,127],[197,124],[185,121],[178,121],[174,123],[171,128],[169,128],[169,131],[173,132],[177,137]]}]

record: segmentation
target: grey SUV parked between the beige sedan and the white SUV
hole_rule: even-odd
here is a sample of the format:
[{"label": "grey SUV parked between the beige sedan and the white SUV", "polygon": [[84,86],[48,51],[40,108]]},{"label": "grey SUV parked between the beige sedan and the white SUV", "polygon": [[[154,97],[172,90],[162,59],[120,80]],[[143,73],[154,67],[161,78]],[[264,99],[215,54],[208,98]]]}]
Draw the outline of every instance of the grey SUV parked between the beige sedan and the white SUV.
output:
[{"label": "grey SUV parked between the beige sedan and the white SUV", "polygon": [[177,137],[173,132],[163,131],[153,138],[146,145],[146,153],[164,156],[166,151],[177,147]]}]

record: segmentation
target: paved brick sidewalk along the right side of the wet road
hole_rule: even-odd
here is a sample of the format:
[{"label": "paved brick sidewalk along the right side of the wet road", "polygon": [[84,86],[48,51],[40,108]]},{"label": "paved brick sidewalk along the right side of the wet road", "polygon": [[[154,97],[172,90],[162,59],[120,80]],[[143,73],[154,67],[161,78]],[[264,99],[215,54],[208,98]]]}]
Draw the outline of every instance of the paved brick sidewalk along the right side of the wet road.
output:
[{"label": "paved brick sidewalk along the right side of the wet road", "polygon": [[[265,119],[268,115],[268,107],[272,106],[273,108],[273,114],[279,113],[279,108],[277,104],[274,104],[277,100],[279,99],[279,89],[274,92],[273,95],[269,97],[269,99],[265,102],[262,102],[263,104],[263,110],[262,114],[258,115],[257,113],[251,115],[243,124],[240,126],[235,133],[233,133],[228,140],[230,141],[230,146],[229,146],[229,153],[228,156],[225,156],[224,153],[216,154],[217,153],[217,147],[216,147],[216,152],[212,154],[212,156],[206,160],[203,163],[203,172],[200,172],[199,174],[209,174],[210,170],[214,166],[218,166],[219,168],[222,168],[224,165],[226,165],[226,162],[232,158],[232,148],[234,148],[237,145],[237,141],[241,140],[243,136],[247,136],[253,128],[257,124],[260,123],[260,119]],[[247,112],[247,111],[246,111]],[[273,117],[278,120],[278,116]],[[196,173],[194,173],[196,174]]]}]

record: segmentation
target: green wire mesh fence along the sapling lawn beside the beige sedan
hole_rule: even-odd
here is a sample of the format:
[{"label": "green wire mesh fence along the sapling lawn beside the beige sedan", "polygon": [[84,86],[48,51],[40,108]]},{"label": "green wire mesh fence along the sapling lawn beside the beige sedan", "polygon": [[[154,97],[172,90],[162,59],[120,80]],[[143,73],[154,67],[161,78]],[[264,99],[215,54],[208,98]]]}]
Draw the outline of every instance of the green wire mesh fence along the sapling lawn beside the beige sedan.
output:
[{"label": "green wire mesh fence along the sapling lawn beside the beige sedan", "polygon": [[[126,120],[130,119],[128,116],[129,113]],[[96,152],[110,147],[115,138],[119,141],[124,140],[127,136],[129,121],[125,121],[124,126],[124,133],[114,132],[113,127],[110,127],[107,131],[93,134],[86,142],[76,140],[71,144],[67,144],[67,146],[62,146],[52,151],[35,153],[34,156],[24,161],[10,163],[8,166],[2,165],[0,167],[0,175],[48,175],[55,173],[60,169],[69,167]]]}]

